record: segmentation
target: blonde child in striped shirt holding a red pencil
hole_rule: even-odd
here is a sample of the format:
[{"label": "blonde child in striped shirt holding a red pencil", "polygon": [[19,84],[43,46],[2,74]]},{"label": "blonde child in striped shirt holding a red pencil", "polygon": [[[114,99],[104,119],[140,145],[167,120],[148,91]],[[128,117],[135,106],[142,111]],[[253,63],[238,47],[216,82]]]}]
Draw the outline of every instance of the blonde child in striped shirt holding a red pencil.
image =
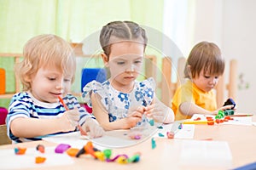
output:
[{"label": "blonde child in striped shirt holding a red pencil", "polygon": [[[15,94],[6,119],[15,143],[47,135],[73,132],[80,125],[90,137],[104,133],[94,116],[70,93],[76,71],[73,48],[55,35],[39,35],[26,42],[24,59],[15,67],[23,92]],[[61,97],[68,110],[59,101]]]}]

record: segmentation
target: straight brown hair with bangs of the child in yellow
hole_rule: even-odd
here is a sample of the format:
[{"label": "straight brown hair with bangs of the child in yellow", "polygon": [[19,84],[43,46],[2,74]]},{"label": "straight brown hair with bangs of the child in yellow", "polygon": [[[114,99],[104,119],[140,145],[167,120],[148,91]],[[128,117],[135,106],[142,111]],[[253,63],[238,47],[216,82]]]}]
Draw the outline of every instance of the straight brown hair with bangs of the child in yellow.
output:
[{"label": "straight brown hair with bangs of the child in yellow", "polygon": [[[185,78],[195,78],[200,72],[223,75],[225,62],[215,43],[199,42],[192,48],[184,68]],[[207,72],[209,71],[209,72]]]}]

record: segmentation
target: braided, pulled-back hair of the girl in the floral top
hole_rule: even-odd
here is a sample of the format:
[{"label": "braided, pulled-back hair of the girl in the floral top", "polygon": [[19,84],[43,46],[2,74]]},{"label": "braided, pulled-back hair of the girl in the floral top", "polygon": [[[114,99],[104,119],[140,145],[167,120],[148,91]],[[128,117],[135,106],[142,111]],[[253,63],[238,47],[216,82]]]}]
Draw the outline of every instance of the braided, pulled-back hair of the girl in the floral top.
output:
[{"label": "braided, pulled-back hair of the girl in the floral top", "polygon": [[111,44],[119,41],[134,41],[144,44],[144,50],[148,43],[145,30],[132,21],[113,21],[102,27],[100,42],[104,53],[109,56]]}]

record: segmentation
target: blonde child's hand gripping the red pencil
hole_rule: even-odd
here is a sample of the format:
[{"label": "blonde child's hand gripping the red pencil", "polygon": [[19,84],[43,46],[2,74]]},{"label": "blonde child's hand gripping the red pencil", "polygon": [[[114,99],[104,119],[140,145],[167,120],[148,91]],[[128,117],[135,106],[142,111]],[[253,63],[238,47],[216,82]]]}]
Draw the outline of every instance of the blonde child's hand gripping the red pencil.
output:
[{"label": "blonde child's hand gripping the red pencil", "polygon": [[78,109],[65,111],[60,121],[62,131],[73,131],[79,125],[79,117],[80,113]]}]

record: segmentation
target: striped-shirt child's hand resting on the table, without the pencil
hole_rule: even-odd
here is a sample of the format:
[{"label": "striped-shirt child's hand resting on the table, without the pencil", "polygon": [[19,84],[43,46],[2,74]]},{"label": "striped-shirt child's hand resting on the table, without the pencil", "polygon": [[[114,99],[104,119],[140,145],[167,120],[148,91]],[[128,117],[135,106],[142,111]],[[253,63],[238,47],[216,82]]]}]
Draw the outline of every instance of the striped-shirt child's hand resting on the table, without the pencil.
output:
[{"label": "striped-shirt child's hand resting on the table, without the pencil", "polygon": [[105,131],[103,128],[99,125],[98,122],[96,122],[95,119],[92,118],[87,118],[82,126],[82,129],[85,132],[90,132],[88,133],[91,138],[98,138],[101,137]]}]

